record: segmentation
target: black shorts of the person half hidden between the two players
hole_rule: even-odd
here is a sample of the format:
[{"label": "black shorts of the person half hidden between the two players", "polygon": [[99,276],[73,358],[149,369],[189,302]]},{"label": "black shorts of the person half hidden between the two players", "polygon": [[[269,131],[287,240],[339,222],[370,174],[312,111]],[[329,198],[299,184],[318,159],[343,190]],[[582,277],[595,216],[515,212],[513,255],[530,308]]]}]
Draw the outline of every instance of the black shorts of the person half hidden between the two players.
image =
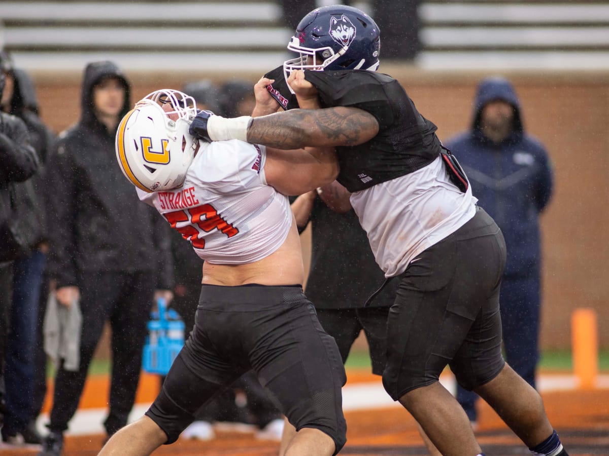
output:
[{"label": "black shorts of the person half hidden between the two players", "polygon": [[372,373],[382,375],[387,364],[387,315],[389,306],[350,309],[317,309],[323,329],[334,337],[343,364],[359,333],[364,331],[370,350]]}]

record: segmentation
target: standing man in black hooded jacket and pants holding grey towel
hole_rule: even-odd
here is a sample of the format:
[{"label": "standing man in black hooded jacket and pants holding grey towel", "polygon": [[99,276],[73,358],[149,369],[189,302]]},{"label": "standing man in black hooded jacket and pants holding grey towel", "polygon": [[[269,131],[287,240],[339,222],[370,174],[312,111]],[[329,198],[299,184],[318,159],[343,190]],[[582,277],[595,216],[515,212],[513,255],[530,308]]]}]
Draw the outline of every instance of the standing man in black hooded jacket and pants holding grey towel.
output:
[{"label": "standing man in black hooded jacket and pants holding grey towel", "polygon": [[[61,305],[82,311],[80,366],[61,364],[55,378],[49,435],[41,455],[62,452],[63,432],[76,412],[105,321],[112,328],[108,436],[125,426],[142,364],[146,322],[163,290],[171,300],[169,225],[139,204],[116,166],[114,137],[130,107],[130,85],[110,61],[85,67],[80,121],[60,134],[48,167],[49,274]],[[152,236],[149,235],[152,233]]]}]

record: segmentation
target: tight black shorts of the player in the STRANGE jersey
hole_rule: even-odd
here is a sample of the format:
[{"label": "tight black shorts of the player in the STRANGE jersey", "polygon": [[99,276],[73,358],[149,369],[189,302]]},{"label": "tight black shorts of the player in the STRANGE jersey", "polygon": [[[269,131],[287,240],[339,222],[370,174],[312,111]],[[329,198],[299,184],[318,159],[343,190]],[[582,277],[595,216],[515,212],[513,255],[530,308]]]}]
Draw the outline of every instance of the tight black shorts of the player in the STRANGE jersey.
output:
[{"label": "tight black shorts of the player in the STRANGE jersey", "polygon": [[319,429],[342,448],[345,368],[300,286],[203,285],[191,337],[146,415],[173,443],[206,401],[250,369],[297,430]]}]

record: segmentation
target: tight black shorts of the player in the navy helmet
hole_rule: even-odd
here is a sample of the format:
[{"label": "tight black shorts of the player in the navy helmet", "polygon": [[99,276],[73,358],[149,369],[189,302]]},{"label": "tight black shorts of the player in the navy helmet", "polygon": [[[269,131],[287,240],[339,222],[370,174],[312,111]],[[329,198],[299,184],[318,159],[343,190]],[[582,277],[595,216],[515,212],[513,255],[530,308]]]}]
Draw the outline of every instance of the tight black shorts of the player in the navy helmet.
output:
[{"label": "tight black shorts of the player in the navy helmet", "polygon": [[387,320],[383,385],[394,400],[438,381],[447,364],[468,390],[504,367],[499,286],[505,242],[495,221],[477,207],[474,218],[417,258],[400,277]]}]

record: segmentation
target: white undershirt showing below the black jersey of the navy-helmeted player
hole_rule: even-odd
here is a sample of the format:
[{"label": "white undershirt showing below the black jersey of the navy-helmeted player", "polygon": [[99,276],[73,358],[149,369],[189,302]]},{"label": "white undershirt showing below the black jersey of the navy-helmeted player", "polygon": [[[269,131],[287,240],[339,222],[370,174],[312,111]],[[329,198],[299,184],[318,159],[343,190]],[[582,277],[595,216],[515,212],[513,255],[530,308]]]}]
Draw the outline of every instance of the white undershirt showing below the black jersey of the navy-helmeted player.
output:
[{"label": "white undershirt showing below the black jersey of the navy-helmeted player", "polygon": [[393,277],[410,261],[476,214],[471,185],[462,193],[438,156],[414,173],[351,194],[351,206],[368,233],[376,263]]}]

